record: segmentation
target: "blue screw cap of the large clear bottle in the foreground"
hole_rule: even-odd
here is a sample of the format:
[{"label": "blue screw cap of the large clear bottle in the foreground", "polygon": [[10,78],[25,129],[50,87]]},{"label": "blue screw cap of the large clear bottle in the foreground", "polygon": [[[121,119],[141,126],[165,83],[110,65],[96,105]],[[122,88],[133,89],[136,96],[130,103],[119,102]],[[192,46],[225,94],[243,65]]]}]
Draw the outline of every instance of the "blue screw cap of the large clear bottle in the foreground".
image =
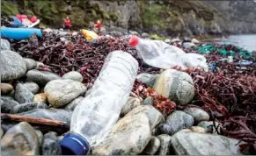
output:
[{"label": "blue screw cap of the large clear bottle in the foreground", "polygon": [[76,133],[68,133],[60,142],[62,155],[86,155],[90,145],[86,139]]}]

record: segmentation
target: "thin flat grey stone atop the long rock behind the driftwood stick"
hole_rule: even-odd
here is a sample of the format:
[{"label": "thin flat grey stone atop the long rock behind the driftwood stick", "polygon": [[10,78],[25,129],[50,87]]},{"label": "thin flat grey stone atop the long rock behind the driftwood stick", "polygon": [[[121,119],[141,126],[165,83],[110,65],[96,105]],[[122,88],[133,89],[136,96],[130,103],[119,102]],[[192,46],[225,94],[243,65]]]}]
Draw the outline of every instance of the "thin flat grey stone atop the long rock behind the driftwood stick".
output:
[{"label": "thin flat grey stone atop the long rock behind the driftwood stick", "polygon": [[26,112],[29,110],[35,110],[35,109],[48,109],[48,105],[46,103],[23,103],[18,104],[11,109],[11,114],[17,114],[21,112]]}]

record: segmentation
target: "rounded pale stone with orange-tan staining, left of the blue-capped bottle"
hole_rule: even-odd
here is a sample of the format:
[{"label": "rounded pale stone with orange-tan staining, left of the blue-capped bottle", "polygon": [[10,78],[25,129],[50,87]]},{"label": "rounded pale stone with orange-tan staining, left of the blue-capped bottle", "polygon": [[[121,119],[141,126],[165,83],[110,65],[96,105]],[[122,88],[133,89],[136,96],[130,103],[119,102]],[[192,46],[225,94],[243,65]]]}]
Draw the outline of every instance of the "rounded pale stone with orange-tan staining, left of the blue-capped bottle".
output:
[{"label": "rounded pale stone with orange-tan staining, left of the blue-capped bottle", "polygon": [[48,82],[44,92],[48,96],[48,102],[52,107],[62,107],[78,96],[84,95],[86,87],[81,82],[73,80],[54,80]]}]

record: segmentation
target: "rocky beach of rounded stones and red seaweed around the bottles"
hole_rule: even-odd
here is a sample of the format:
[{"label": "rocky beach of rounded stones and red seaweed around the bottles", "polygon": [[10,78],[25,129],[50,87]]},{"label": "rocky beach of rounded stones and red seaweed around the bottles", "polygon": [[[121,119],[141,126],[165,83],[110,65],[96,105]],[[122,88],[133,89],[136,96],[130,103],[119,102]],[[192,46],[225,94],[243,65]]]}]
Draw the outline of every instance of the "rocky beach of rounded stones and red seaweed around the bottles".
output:
[{"label": "rocky beach of rounded stones and red seaweed around the bottles", "polygon": [[[1,39],[1,44],[4,154],[61,154],[59,141],[69,131],[73,110],[90,95],[114,50],[132,54],[139,72],[120,119],[91,154],[254,153],[255,53],[240,55],[232,45],[180,46],[187,53],[208,48],[205,57],[217,65],[201,72],[147,66],[125,37],[89,42],[79,33],[44,32],[42,39]],[[233,62],[223,60],[229,55],[224,51],[234,51]],[[254,63],[238,64],[246,56]]]}]

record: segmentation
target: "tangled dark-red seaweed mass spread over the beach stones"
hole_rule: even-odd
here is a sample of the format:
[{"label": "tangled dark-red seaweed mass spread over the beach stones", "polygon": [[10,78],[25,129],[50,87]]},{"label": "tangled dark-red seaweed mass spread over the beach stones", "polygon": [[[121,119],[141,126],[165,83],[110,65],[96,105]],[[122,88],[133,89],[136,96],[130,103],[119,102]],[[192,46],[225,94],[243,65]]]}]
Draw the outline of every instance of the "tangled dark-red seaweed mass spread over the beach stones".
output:
[{"label": "tangled dark-red seaweed mass spread over the beach stones", "polygon": [[[137,58],[135,48],[128,46],[127,39],[103,38],[96,42],[88,42],[82,35],[69,35],[65,38],[69,38],[68,40],[71,42],[61,39],[56,34],[44,33],[42,39],[32,37],[28,41],[11,41],[11,47],[23,57],[32,58],[48,65],[48,68],[55,74],[62,75],[72,70],[79,71],[83,74],[84,83],[88,87],[96,80],[106,55],[114,50],[131,53],[139,62],[139,73],[160,73],[158,68],[143,65],[143,61]],[[199,48],[184,50],[187,53],[205,52]],[[195,69],[183,70],[192,76],[195,87],[194,100],[187,107],[200,107],[208,111],[213,120],[222,123],[219,133],[245,141],[246,144],[241,147],[245,149],[250,146],[252,147],[250,149],[254,149],[253,152],[255,152],[255,56],[251,55],[248,58],[245,52],[243,52],[244,54],[239,53],[236,46],[212,46],[209,50],[210,54],[203,54],[209,63],[216,63],[216,68],[211,72],[200,72]],[[232,51],[233,63],[221,60],[223,55],[227,55],[226,51]],[[240,66],[238,61],[242,59],[251,59],[254,64]],[[175,67],[175,69],[180,70],[179,67]],[[157,95],[153,89],[137,80],[133,92],[143,98],[153,97],[155,107],[165,114],[170,114],[173,110],[185,109],[176,106],[167,97]]]}]

